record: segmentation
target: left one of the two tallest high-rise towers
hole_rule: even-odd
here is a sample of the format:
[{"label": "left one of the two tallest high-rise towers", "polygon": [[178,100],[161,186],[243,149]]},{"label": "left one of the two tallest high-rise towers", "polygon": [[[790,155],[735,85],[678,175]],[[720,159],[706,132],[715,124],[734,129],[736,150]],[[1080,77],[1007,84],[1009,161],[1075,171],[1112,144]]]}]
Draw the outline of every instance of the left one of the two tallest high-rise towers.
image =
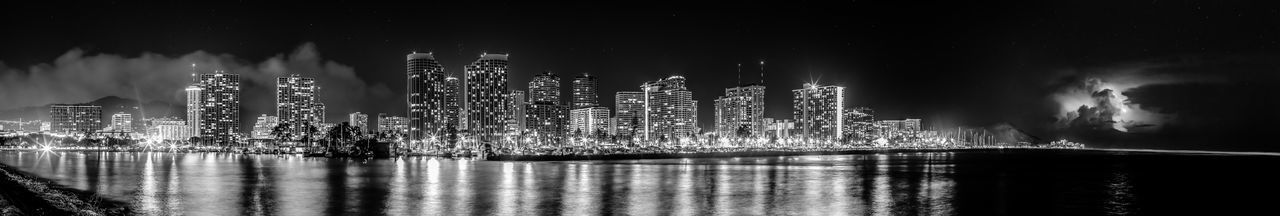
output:
[{"label": "left one of the two tallest high-rise towers", "polygon": [[408,139],[412,147],[421,147],[429,137],[443,137],[448,127],[444,66],[431,52],[410,54],[407,61]]}]

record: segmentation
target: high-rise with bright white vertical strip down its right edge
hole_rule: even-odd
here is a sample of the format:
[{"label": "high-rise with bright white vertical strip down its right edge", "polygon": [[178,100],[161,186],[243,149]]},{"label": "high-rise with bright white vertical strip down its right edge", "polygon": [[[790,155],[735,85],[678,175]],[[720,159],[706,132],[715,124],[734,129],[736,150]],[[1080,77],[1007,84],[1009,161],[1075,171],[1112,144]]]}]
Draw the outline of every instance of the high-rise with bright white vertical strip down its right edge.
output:
[{"label": "high-rise with bright white vertical strip down its right edge", "polygon": [[791,95],[791,114],[801,135],[835,141],[844,134],[845,87],[805,83]]}]

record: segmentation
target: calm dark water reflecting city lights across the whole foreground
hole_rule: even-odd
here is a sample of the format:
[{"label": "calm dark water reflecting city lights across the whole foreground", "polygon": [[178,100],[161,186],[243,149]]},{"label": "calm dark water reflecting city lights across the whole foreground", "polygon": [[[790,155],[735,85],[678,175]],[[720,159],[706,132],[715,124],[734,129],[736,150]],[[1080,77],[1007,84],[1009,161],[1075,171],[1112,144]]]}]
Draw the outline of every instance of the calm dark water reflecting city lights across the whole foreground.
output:
[{"label": "calm dark water reflecting city lights across the whole foreground", "polygon": [[147,215],[1274,212],[1280,157],[1105,151],[499,162],[0,151]]}]

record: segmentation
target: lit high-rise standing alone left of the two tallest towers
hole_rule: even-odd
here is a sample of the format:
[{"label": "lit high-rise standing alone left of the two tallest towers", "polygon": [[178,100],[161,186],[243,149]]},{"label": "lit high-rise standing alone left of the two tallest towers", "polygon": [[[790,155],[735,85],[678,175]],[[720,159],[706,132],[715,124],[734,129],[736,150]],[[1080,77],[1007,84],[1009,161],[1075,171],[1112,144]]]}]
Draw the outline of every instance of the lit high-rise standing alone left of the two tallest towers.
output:
[{"label": "lit high-rise standing alone left of the two tallest towers", "polygon": [[291,134],[302,135],[307,127],[324,123],[319,91],[310,77],[289,74],[275,79],[275,115],[279,124],[289,127]]}]

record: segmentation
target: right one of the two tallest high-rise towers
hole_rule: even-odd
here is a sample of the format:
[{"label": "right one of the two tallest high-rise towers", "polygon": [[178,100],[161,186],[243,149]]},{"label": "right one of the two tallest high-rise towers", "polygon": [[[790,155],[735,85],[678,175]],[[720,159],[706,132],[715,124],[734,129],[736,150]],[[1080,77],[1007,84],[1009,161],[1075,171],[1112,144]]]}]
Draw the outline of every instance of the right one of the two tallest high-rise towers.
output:
[{"label": "right one of the two tallest high-rise towers", "polygon": [[507,121],[507,70],[506,54],[483,54],[466,66],[466,118],[467,130],[480,142],[498,141]]}]

